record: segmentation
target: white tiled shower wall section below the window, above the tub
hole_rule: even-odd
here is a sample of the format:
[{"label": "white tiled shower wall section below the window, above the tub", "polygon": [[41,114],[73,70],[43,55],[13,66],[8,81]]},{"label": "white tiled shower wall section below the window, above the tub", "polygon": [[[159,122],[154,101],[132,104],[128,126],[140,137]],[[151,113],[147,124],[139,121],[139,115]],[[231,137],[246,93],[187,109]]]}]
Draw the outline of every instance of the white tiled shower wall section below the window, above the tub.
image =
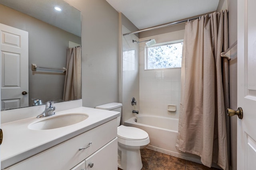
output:
[{"label": "white tiled shower wall section below the window, above the tub", "polygon": [[[178,118],[180,104],[180,68],[141,70],[140,112]],[[168,104],[176,111],[168,111]]]}]

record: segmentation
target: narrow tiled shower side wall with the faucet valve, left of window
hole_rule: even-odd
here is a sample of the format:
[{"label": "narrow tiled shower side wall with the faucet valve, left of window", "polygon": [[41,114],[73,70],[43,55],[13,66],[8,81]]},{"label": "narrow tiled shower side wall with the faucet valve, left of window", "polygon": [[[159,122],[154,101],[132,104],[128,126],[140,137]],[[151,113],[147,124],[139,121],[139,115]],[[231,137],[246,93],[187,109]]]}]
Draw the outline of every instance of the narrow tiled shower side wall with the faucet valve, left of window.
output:
[{"label": "narrow tiled shower side wall with the faucet valve, left of window", "polygon": [[[122,26],[123,33],[129,33],[126,27]],[[122,118],[127,120],[134,113],[132,110],[139,109],[139,45],[132,43],[132,40],[139,41],[134,34],[125,35],[122,38]],[[132,106],[131,100],[134,97],[137,105]]]}]

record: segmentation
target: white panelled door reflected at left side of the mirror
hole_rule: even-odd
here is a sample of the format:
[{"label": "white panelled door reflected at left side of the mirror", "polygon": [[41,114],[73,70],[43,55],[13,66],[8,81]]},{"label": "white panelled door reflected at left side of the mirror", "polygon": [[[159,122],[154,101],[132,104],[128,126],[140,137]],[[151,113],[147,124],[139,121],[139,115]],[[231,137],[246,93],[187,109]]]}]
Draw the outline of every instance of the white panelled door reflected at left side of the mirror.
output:
[{"label": "white panelled door reflected at left side of the mirror", "polygon": [[28,106],[28,32],[0,23],[0,58],[1,110]]}]

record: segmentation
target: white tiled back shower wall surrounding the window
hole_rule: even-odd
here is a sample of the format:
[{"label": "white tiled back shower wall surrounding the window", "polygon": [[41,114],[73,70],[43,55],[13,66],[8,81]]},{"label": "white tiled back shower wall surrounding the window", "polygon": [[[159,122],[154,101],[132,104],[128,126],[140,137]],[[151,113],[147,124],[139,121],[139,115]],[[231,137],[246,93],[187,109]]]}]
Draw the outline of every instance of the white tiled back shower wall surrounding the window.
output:
[{"label": "white tiled back shower wall surrounding the window", "polygon": [[[174,31],[140,41],[155,39],[156,43],[165,43],[183,39],[184,30]],[[179,117],[181,68],[145,70],[145,43],[140,43],[140,113],[165,117]],[[175,105],[176,111],[168,111],[168,104]]]}]

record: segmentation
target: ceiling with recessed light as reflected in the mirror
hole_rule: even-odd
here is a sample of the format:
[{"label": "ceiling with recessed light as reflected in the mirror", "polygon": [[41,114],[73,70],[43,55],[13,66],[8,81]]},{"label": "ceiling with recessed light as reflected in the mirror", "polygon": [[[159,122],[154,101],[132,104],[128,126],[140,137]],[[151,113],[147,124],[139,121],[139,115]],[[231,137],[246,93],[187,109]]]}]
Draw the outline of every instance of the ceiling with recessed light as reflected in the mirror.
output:
[{"label": "ceiling with recessed light as reflected in the mirror", "polygon": [[81,37],[81,13],[64,0],[0,0],[0,4]]}]

